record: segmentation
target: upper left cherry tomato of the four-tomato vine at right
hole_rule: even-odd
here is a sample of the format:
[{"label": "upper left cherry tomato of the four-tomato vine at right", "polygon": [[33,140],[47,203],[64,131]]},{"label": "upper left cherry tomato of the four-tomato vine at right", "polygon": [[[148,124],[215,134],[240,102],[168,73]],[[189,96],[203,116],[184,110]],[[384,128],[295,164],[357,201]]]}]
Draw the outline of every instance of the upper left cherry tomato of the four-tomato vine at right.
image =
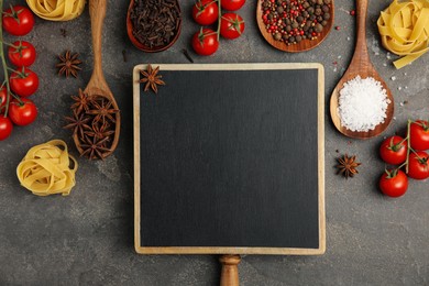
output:
[{"label": "upper left cherry tomato of the four-tomato vine at right", "polygon": [[391,165],[403,164],[407,160],[407,141],[400,136],[392,136],[383,141],[380,156]]}]

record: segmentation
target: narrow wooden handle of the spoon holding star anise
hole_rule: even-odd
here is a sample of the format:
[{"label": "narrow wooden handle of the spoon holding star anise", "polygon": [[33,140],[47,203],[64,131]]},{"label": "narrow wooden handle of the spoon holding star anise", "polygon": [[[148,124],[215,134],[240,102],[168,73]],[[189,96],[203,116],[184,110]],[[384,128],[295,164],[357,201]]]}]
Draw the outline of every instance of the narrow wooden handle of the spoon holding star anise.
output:
[{"label": "narrow wooden handle of the spoon holding star anise", "polygon": [[[101,31],[106,16],[107,0],[89,0],[89,16],[91,19],[94,72],[92,77],[103,80],[101,64]],[[106,82],[106,80],[105,80]]]}]

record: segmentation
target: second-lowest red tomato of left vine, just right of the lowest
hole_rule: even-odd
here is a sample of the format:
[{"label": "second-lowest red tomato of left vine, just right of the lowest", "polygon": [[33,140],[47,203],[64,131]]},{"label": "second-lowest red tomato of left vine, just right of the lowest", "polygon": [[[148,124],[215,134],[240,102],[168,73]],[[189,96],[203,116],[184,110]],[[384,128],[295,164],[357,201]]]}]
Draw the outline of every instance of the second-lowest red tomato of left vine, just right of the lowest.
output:
[{"label": "second-lowest red tomato of left vine, just right of the lowest", "polygon": [[20,127],[29,125],[37,117],[37,108],[28,98],[21,98],[22,103],[13,99],[9,105],[9,117],[13,123]]}]

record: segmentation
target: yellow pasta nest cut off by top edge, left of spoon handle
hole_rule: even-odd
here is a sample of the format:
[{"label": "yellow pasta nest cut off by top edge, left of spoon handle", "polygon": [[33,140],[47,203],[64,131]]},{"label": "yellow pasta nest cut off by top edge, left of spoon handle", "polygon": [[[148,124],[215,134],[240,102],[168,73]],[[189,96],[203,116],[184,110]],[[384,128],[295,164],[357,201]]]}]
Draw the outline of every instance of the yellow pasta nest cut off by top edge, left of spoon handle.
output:
[{"label": "yellow pasta nest cut off by top edge, left of spoon handle", "polygon": [[73,20],[85,8],[85,0],[26,0],[26,3],[36,15],[51,21]]}]

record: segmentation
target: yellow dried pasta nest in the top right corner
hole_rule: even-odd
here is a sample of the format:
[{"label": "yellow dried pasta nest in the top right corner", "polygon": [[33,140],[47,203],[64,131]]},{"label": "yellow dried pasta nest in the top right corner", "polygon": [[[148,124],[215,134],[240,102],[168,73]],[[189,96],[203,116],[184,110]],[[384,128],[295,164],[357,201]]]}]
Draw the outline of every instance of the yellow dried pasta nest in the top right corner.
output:
[{"label": "yellow dried pasta nest in the top right corner", "polygon": [[381,12],[377,25],[383,46],[404,56],[394,62],[402,68],[429,50],[429,0],[394,0]]}]

